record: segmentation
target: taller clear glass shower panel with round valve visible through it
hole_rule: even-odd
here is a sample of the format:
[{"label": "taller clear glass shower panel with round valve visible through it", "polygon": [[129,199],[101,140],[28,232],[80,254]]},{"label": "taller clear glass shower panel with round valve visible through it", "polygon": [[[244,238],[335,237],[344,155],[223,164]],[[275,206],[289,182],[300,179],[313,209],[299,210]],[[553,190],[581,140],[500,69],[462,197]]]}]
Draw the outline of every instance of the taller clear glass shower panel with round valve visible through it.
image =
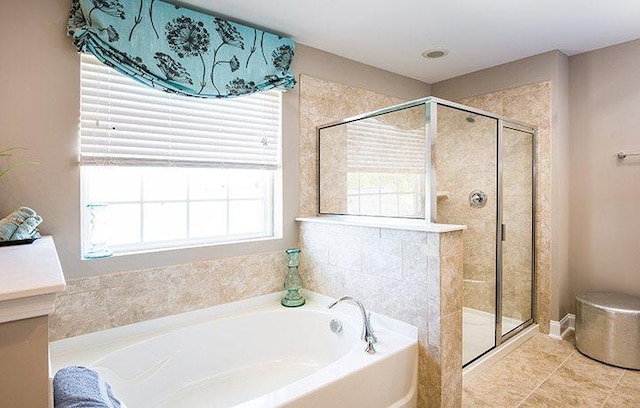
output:
[{"label": "taller clear glass shower panel with round valve visible through it", "polygon": [[437,105],[437,222],[464,224],[463,364],[496,346],[498,120]]}]

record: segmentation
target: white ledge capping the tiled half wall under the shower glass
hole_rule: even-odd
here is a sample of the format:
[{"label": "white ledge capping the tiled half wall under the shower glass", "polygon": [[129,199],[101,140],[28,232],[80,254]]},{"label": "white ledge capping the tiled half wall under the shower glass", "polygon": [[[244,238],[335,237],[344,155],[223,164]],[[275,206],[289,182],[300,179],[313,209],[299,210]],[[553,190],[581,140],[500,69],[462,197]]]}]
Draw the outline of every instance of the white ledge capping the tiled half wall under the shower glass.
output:
[{"label": "white ledge capping the tiled half wall under the shower glass", "polygon": [[385,217],[361,217],[347,215],[298,217],[296,218],[296,221],[437,233],[461,231],[467,229],[466,225],[434,224],[426,222],[425,220]]}]

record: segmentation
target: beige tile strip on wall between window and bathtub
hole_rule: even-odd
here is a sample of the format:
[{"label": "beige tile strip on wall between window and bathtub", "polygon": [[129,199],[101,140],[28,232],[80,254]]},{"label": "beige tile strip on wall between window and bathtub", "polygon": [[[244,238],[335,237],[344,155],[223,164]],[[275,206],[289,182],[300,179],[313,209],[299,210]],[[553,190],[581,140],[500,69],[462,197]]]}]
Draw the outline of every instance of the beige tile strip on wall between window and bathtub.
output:
[{"label": "beige tile strip on wall between window and bathtub", "polygon": [[72,279],[49,319],[55,341],[282,290],[284,251]]}]

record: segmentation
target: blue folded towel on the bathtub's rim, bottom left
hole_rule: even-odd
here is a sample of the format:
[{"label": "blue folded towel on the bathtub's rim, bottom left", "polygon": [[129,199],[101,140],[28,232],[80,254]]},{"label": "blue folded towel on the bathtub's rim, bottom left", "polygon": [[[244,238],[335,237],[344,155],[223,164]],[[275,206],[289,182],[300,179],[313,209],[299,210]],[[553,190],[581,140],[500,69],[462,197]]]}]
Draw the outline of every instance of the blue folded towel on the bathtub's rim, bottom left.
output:
[{"label": "blue folded towel on the bathtub's rim, bottom left", "polygon": [[54,408],[126,408],[100,375],[86,367],[61,368],[53,377]]}]

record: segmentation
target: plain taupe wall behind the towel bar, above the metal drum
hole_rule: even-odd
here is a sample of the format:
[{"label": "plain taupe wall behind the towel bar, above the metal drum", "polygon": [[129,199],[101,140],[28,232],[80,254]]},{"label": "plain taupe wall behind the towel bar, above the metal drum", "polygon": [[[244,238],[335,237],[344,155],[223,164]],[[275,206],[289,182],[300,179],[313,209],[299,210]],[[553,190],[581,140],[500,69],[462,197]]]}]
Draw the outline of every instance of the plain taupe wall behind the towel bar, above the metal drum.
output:
[{"label": "plain taupe wall behind the towel bar, above the metal drum", "polygon": [[571,294],[640,296],[640,40],[569,59]]}]

